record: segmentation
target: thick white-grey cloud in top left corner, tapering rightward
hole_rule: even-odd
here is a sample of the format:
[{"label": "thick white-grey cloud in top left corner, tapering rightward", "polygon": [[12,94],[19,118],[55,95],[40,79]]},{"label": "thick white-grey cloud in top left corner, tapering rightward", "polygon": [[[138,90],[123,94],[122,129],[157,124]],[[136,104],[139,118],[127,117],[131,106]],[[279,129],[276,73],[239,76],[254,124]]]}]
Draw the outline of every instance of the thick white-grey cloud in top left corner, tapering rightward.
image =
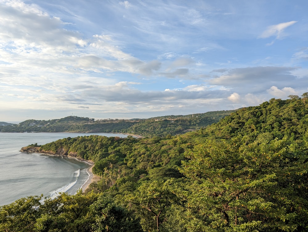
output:
[{"label": "thick white-grey cloud in top left corner, tapering rightward", "polygon": [[71,52],[86,44],[79,33],[63,29],[63,22],[41,11],[36,5],[21,1],[6,2],[0,7],[2,47],[18,53],[38,53],[51,47],[58,53]]}]

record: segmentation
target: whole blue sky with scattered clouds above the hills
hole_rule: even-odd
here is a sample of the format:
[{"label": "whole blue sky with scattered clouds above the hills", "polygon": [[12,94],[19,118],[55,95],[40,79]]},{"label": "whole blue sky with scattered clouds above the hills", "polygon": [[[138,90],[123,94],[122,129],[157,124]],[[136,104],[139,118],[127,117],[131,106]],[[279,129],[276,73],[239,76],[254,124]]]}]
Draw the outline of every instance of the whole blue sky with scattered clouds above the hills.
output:
[{"label": "whole blue sky with scattered clouds above the hills", "polygon": [[308,92],[306,0],[0,0],[0,121],[188,115]]}]

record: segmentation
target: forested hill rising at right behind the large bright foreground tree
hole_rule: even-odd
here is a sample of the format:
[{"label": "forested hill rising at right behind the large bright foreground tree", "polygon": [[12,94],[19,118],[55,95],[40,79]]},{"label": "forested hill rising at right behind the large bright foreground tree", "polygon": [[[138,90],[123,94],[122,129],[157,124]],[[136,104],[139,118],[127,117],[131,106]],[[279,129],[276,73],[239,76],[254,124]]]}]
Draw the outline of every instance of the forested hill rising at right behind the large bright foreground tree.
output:
[{"label": "forested hill rising at right behind the large bright foreground tree", "polygon": [[308,138],[308,104],[304,99],[271,99],[259,106],[237,110],[216,124],[196,131],[205,137],[257,137],[270,133],[274,138],[288,136],[290,141]]}]

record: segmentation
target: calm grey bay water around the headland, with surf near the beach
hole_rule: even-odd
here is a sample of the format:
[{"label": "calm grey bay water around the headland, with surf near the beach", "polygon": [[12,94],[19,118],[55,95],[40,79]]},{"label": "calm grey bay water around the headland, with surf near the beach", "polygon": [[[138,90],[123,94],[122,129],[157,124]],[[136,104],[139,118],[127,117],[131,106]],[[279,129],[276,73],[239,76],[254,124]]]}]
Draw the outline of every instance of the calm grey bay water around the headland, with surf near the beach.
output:
[{"label": "calm grey bay water around the headland, with surf near the beach", "polygon": [[[95,133],[103,136],[121,134]],[[59,192],[75,194],[88,180],[86,163],[74,159],[22,153],[29,144],[52,141],[90,133],[0,133],[0,206],[22,197],[55,196]]]}]

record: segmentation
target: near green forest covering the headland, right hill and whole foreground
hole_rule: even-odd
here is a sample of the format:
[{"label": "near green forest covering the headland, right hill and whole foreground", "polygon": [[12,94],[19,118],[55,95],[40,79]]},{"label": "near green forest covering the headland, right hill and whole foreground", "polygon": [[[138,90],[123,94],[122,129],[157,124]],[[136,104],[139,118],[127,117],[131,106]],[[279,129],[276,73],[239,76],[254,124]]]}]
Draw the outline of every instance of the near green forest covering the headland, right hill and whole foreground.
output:
[{"label": "near green forest covering the headland, right hill and whole foreground", "polygon": [[101,180],[86,193],[2,206],[0,231],[308,231],[306,97],[271,99],[184,135],[42,145],[91,159]]}]

